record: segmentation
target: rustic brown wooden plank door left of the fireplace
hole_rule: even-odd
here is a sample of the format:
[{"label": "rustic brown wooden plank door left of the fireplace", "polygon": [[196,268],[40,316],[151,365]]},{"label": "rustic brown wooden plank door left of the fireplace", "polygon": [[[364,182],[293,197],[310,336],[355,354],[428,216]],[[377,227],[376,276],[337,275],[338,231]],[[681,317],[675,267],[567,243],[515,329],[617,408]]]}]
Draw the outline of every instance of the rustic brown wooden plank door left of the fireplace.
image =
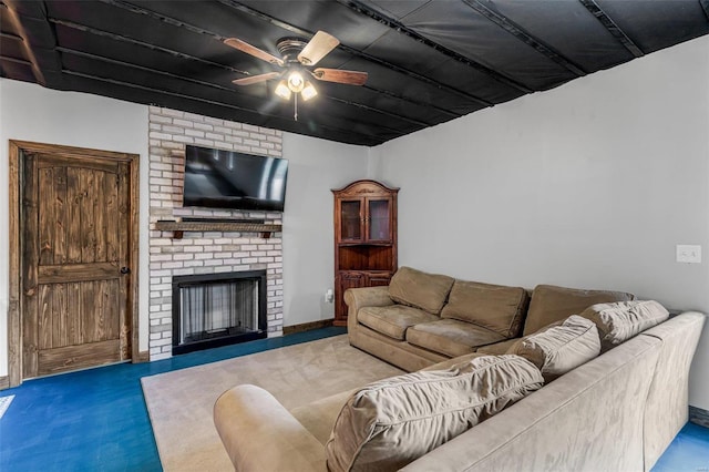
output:
[{"label": "rustic brown wooden plank door left of the fireplace", "polygon": [[130,164],[29,152],[22,191],[22,377],[131,359]]}]

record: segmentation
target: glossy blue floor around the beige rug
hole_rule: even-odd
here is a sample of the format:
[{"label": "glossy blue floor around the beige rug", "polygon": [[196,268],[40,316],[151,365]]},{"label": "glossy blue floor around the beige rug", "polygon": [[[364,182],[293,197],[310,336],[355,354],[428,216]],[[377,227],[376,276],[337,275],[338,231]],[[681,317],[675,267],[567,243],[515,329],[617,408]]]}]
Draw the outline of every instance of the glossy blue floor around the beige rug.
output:
[{"label": "glossy blue floor around the beige rug", "polygon": [[[0,471],[161,471],[141,378],[336,336],[325,328],[147,363],[25,381],[0,419]],[[654,472],[709,472],[709,429],[688,423]],[[205,471],[206,472],[206,471]]]}]

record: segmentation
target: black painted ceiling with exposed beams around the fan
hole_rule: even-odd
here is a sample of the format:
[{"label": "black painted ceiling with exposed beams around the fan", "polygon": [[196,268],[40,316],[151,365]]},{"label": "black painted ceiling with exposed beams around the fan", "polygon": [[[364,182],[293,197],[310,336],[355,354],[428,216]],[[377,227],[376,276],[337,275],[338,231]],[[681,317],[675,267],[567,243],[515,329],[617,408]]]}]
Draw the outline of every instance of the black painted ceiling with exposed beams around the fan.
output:
[{"label": "black painted ceiling with exposed beams around the fan", "polygon": [[[2,76],[50,89],[376,145],[555,88],[709,32],[709,0],[0,0]],[[274,96],[284,37],[341,44],[318,66],[369,73],[316,81],[317,99]]]}]

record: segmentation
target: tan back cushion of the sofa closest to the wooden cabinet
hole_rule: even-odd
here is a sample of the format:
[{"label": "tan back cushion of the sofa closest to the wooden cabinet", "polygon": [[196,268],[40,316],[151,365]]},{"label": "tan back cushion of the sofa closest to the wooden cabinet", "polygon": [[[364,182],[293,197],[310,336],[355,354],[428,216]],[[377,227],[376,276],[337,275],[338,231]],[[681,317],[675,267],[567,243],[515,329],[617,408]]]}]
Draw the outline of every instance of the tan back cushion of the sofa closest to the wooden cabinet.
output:
[{"label": "tan back cushion of the sofa closest to the wooden cabinet", "polygon": [[389,297],[399,304],[439,315],[453,281],[453,277],[401,267],[389,283]]}]

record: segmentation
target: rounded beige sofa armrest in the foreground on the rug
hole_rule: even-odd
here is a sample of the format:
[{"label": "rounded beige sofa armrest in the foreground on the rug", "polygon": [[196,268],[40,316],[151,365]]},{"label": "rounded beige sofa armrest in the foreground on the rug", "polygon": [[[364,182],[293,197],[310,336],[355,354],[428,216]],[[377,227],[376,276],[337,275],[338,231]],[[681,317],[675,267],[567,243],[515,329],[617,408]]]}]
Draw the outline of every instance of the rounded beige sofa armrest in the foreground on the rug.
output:
[{"label": "rounded beige sofa armrest in the foreground on the rug", "polygon": [[224,392],[214,404],[214,424],[239,472],[327,470],[322,444],[259,387]]}]

